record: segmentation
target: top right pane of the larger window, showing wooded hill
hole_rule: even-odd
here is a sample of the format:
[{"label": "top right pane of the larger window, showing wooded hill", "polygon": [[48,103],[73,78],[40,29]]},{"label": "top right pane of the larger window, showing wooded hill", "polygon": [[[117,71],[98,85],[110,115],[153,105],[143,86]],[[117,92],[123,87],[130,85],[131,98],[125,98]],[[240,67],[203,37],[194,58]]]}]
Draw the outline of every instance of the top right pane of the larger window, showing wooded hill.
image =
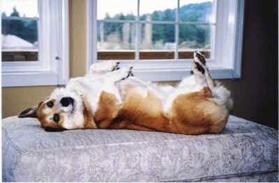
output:
[{"label": "top right pane of the larger window, showing wooded hill", "polygon": [[213,22],[213,0],[181,0],[179,20],[182,22]]}]

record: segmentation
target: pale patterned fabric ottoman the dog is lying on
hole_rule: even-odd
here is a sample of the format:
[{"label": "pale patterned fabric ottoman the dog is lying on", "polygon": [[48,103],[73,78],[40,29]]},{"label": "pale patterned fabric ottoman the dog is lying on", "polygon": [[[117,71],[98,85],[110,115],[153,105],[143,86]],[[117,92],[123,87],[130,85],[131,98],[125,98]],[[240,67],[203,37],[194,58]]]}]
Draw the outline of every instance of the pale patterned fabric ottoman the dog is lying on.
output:
[{"label": "pale patterned fabric ottoman the dog is lying on", "polygon": [[278,182],[278,131],[229,116],[221,134],[132,130],[45,132],[2,121],[3,181]]}]

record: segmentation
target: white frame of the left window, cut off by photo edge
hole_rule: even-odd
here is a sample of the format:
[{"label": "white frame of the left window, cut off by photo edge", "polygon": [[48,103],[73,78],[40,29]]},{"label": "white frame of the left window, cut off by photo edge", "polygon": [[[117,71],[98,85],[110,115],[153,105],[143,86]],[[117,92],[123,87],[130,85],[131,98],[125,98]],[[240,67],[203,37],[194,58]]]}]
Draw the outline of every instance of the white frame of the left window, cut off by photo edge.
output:
[{"label": "white frame of the left window, cut off by photo edge", "polygon": [[68,82],[68,0],[38,0],[38,12],[38,61],[2,61],[3,87]]}]

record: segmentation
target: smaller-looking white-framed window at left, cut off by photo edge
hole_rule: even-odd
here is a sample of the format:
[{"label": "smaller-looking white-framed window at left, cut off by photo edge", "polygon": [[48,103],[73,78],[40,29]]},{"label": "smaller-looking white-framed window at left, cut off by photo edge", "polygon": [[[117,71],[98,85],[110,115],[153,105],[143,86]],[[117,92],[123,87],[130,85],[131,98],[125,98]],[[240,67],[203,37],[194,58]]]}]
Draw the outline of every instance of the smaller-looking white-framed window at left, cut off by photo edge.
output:
[{"label": "smaller-looking white-framed window at left, cut off by photo edge", "polygon": [[3,0],[2,86],[68,81],[68,0]]}]

